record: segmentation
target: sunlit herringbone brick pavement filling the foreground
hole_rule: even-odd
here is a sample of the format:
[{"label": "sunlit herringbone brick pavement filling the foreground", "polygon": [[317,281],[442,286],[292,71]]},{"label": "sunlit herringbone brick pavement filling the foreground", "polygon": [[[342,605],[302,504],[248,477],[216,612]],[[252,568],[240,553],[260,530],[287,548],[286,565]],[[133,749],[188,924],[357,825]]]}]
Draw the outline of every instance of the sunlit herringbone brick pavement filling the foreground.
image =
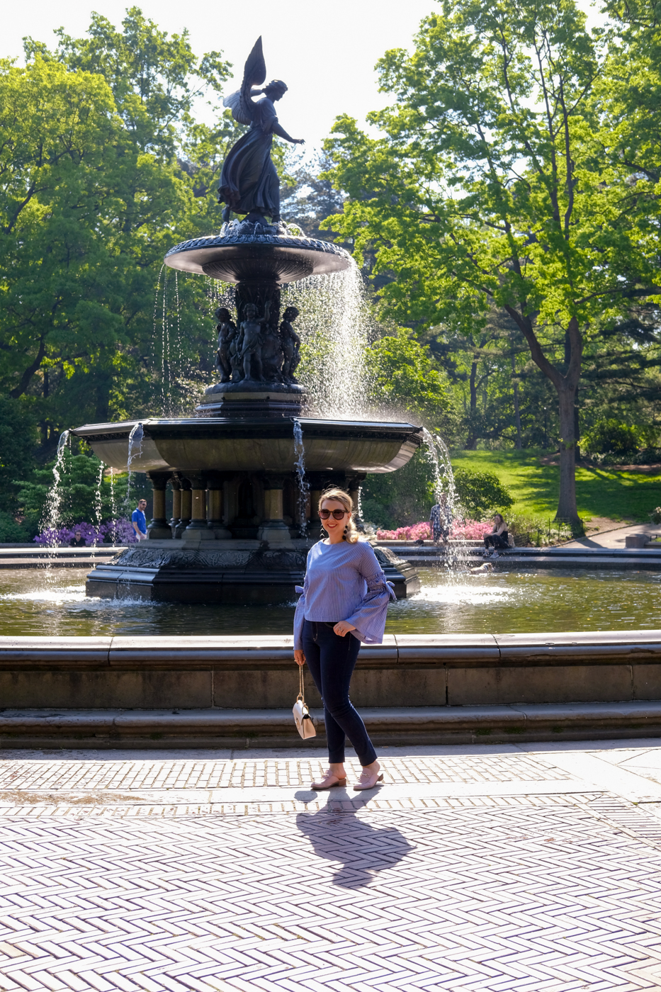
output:
[{"label": "sunlit herringbone brick pavement filling the foreground", "polygon": [[5,817],[0,989],[658,992],[656,818],[544,800]]}]

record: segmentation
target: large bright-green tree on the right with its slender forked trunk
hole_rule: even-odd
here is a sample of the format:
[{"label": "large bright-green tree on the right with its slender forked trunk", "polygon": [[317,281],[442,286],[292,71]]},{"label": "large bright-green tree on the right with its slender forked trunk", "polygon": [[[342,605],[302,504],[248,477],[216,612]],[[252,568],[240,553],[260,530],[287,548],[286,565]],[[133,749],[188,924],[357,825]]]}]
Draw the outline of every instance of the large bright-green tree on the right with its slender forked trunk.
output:
[{"label": "large bright-green tree on the right with its slender forked trunk", "polygon": [[[382,290],[386,312],[472,331],[495,308],[515,322],[557,394],[558,517],[575,523],[586,338],[604,315],[661,292],[654,180],[612,139],[613,90],[631,90],[631,42],[610,58],[612,42],[586,30],[573,0],[447,0],[413,55],[379,63],[395,97],[369,115],[383,136],[342,117],[327,143],[332,179],[349,194],[332,227],[396,274]],[[657,78],[648,98],[658,107]]]}]

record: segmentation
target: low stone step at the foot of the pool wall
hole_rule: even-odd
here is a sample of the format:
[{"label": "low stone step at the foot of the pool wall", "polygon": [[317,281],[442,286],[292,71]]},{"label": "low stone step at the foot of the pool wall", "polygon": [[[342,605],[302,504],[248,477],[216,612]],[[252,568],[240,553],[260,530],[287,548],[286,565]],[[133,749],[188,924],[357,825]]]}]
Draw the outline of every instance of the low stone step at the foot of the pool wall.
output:
[{"label": "low stone step at the foot of the pool wall", "polygon": [[[6,709],[0,712],[0,747],[326,747],[321,713],[313,715],[317,737],[304,743],[289,709]],[[377,746],[621,739],[661,733],[661,701],[384,707],[361,709],[361,715]]]}]

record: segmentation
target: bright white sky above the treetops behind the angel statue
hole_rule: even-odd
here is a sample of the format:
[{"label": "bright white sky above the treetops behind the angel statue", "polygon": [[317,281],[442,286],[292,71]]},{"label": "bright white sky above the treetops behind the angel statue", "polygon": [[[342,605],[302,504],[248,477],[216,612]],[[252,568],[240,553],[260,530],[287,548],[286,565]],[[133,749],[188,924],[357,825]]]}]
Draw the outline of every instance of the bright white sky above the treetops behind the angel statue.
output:
[{"label": "bright white sky above the treetops behind the angel statue", "polygon": [[[97,11],[120,28],[130,0],[33,0],[9,4],[3,11],[0,58],[19,58],[22,38],[55,48],[53,31],[80,38],[90,12]],[[146,17],[161,29],[180,33],[188,28],[194,52],[220,50],[240,75],[257,36],[264,38],[269,78],[284,79],[290,92],[281,103],[281,117],[290,134],[305,138],[308,150],[320,146],[334,118],[348,113],[362,120],[369,110],[385,106],[378,92],[374,64],[387,49],[408,48],[423,17],[438,9],[435,0],[224,0],[216,4],[181,4],[173,0],[138,0]],[[238,88],[238,80],[236,88]],[[234,88],[234,87],[232,87]],[[202,115],[203,116],[203,115]]]}]

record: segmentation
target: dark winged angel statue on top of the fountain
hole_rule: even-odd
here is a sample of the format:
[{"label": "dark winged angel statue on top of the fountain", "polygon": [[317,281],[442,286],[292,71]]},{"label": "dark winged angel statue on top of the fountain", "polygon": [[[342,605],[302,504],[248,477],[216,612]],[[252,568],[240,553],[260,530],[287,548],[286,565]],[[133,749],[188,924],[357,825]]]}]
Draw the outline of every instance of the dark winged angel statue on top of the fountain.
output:
[{"label": "dark winged angel statue on top of the fountain", "polygon": [[[278,123],[274,103],[287,92],[282,79],[273,79],[263,89],[253,89],[266,78],[266,63],[262,53],[262,39],[258,38],[243,69],[241,88],[222,101],[231,107],[232,116],[239,124],[249,124],[250,130],[230,149],[222,165],[218,200],[226,203],[222,219],[227,222],[230,213],[247,213],[247,219],[264,222],[268,214],[273,223],[280,220],[280,181],[271,161],[273,135],[303,145],[302,138],[291,138]],[[253,96],[264,94],[261,100]]]}]

